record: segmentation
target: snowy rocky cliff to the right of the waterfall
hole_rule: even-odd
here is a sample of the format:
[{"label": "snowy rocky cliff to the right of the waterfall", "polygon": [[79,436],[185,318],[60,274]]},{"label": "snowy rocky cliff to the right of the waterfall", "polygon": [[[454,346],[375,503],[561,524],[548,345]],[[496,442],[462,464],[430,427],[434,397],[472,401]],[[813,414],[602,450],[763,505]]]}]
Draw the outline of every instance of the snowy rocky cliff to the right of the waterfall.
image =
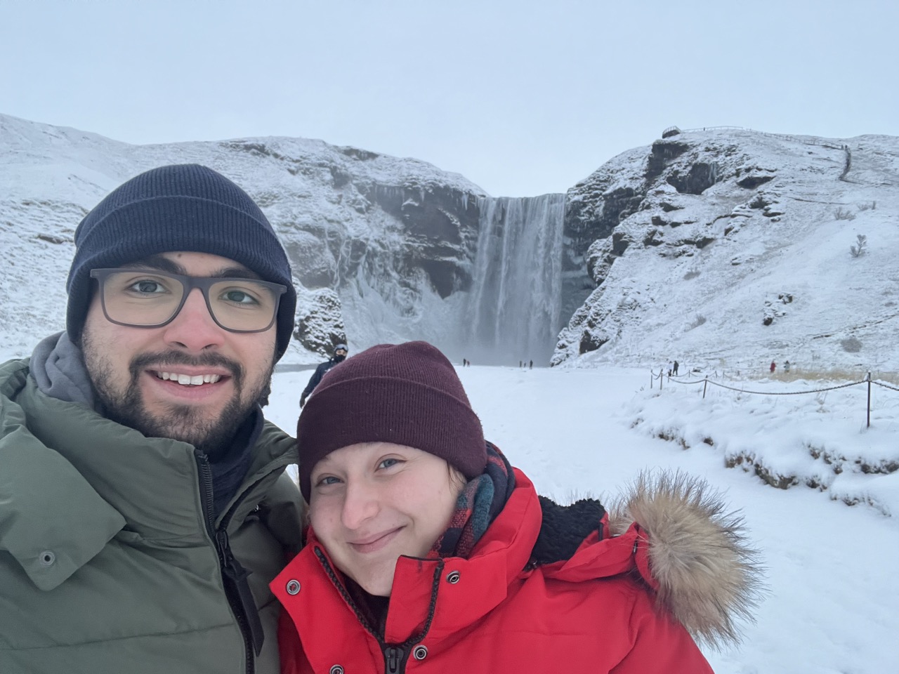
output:
[{"label": "snowy rocky cliff to the right of the waterfall", "polygon": [[681,133],[615,157],[567,199],[570,278],[583,261],[594,288],[554,365],[899,365],[885,332],[899,327],[899,139]]}]

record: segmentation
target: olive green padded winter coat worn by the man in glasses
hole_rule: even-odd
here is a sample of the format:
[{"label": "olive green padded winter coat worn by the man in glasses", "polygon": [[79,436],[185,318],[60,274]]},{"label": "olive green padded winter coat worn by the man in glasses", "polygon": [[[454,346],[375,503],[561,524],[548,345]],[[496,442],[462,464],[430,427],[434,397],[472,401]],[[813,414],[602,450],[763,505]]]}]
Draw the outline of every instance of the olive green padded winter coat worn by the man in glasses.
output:
[{"label": "olive green padded winter coat worn by the man in glasses", "polygon": [[[268,584],[300,541],[293,440],[266,422],[213,523],[191,445],[49,397],[28,372],[0,366],[0,672],[278,674]],[[251,572],[258,658],[223,549]]]}]

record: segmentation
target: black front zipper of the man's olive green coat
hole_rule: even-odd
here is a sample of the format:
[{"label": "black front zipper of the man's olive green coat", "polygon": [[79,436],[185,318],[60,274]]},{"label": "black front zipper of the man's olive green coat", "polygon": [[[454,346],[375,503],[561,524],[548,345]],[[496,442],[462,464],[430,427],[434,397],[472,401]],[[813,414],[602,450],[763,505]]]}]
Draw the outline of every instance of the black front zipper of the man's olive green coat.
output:
[{"label": "black front zipper of the man's olive green coat", "polygon": [[[231,607],[232,613],[240,628],[240,634],[244,637],[244,652],[246,656],[246,674],[254,674],[255,660],[254,652],[258,654],[263,647],[262,634],[259,635],[258,643],[254,646],[254,627],[259,625],[258,629],[262,630],[262,623],[259,620],[259,614],[256,612],[256,605],[250,592],[249,586],[246,584],[246,577],[249,575],[243,566],[236,560],[231,552],[231,546],[227,539],[227,523],[230,517],[222,519],[221,527],[216,528],[215,515],[213,514],[213,489],[212,489],[212,468],[209,466],[209,457],[200,451],[195,451],[197,466],[200,469],[200,492],[203,502],[203,516],[206,519],[206,528],[209,537],[215,545],[218,554],[218,566],[222,572],[222,580],[225,581],[225,596],[228,605]],[[232,590],[231,588],[234,588]],[[237,596],[235,597],[235,592]],[[249,595],[250,603],[253,607],[253,615],[249,615],[249,611],[245,605],[245,601]],[[251,621],[254,621],[251,623]]]}]

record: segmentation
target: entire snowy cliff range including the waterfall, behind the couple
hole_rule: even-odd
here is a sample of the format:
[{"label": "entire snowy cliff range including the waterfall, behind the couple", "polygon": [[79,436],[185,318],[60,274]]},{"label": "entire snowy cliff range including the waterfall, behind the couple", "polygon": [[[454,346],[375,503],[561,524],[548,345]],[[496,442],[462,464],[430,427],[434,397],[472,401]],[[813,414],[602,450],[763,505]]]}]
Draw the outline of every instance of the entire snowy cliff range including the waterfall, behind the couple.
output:
[{"label": "entire snowy cliff range including the waterfall, behind the couple", "polygon": [[62,329],[87,210],[177,162],[234,179],[279,232],[299,296],[287,362],[427,339],[507,365],[899,369],[899,138],[700,129],[514,200],[318,140],[130,146],[4,115],[0,356]]}]

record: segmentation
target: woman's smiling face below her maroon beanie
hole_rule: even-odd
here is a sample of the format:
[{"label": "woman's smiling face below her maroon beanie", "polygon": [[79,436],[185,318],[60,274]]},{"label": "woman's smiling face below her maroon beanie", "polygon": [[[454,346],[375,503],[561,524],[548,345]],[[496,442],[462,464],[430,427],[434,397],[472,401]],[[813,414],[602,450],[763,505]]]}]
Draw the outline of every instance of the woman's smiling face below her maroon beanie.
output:
[{"label": "woman's smiling face below her maroon beanie", "polygon": [[465,478],[421,449],[363,442],[319,461],[311,483],[309,518],[334,564],[369,594],[388,597],[396,559],[427,556]]}]

